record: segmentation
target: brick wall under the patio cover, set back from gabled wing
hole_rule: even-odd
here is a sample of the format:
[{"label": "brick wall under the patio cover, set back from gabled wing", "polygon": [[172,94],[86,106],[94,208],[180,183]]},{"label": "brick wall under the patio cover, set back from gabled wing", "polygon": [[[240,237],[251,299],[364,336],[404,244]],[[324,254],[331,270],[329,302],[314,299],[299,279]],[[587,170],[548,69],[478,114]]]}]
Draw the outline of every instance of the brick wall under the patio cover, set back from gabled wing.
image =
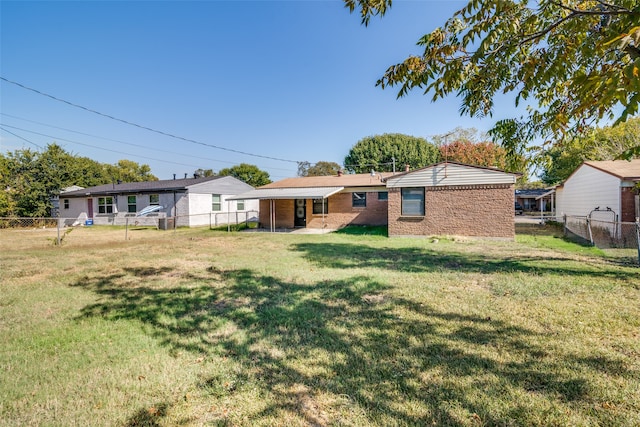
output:
[{"label": "brick wall under the patio cover, set back from gabled wing", "polygon": [[[324,215],[324,228],[342,228],[354,225],[386,225],[387,201],[378,200],[377,192],[367,193],[367,206],[351,206],[351,193],[338,193],[329,197],[329,213]],[[269,227],[269,200],[260,201],[260,226]],[[276,227],[293,228],[293,200],[276,200]],[[322,228],[322,214],[313,213],[313,201],[307,200],[307,227]]]}]

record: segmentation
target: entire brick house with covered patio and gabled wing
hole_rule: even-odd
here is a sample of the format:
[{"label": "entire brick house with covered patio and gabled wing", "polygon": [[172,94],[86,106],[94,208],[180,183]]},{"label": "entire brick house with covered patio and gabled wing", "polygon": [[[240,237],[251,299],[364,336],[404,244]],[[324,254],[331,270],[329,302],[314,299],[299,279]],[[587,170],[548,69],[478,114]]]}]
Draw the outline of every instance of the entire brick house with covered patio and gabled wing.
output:
[{"label": "entire brick house with covered patio and gabled wing", "polygon": [[388,225],[389,236],[513,239],[517,175],[459,163],[402,174],[288,178],[236,197],[260,200],[260,225],[329,228]]}]

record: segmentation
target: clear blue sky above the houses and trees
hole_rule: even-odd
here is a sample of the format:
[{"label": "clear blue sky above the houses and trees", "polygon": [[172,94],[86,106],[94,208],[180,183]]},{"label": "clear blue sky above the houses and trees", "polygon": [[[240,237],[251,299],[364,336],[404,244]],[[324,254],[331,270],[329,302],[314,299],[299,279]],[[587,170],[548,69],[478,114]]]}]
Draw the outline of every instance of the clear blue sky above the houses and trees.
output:
[{"label": "clear blue sky above the houses and trees", "polygon": [[0,123],[15,134],[0,131],[0,151],[57,142],[160,179],[251,163],[278,180],[295,161],[342,164],[371,135],[486,131],[512,107],[472,119],[456,98],[375,86],[465,4],[396,0],[365,27],[339,0],[1,1],[2,77],[179,138],[0,81]]}]

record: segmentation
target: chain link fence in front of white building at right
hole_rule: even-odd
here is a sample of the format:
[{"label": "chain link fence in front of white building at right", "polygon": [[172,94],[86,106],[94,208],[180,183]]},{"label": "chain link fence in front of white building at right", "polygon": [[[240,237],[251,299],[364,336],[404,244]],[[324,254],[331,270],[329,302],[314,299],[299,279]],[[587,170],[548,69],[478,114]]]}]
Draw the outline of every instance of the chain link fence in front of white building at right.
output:
[{"label": "chain link fence in front of white building at right", "polygon": [[619,222],[589,216],[563,217],[565,235],[600,249],[636,249],[640,264],[640,221]]}]

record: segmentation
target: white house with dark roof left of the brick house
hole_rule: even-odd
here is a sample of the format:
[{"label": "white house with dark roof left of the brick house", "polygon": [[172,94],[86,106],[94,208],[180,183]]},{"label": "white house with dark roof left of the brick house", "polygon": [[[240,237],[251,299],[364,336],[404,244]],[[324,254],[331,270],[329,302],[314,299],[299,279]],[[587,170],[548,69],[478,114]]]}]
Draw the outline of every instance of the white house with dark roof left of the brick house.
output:
[{"label": "white house with dark roof left of the brick house", "polygon": [[257,202],[229,200],[252,189],[231,176],[106,184],[61,192],[59,212],[62,218],[90,219],[97,225],[125,224],[158,205],[162,208],[149,216],[175,218],[176,226],[226,224],[235,222],[236,212],[257,215]]}]

